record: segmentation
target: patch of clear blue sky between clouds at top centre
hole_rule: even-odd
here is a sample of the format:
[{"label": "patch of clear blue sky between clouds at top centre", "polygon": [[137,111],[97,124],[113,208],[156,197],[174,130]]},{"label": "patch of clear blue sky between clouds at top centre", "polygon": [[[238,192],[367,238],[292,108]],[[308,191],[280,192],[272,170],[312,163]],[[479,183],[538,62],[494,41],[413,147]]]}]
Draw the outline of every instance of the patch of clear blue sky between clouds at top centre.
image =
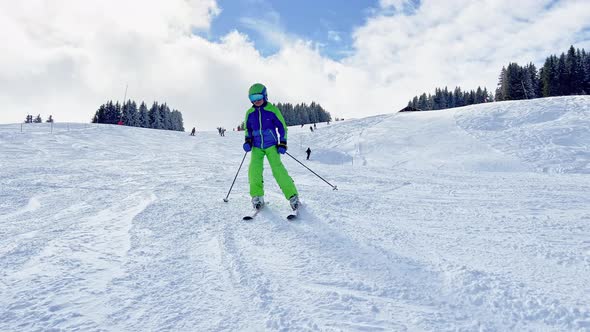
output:
[{"label": "patch of clear blue sky between clouds at top centre", "polygon": [[279,50],[280,45],[267,38],[273,29],[286,35],[313,41],[320,53],[341,59],[352,51],[353,29],[362,26],[378,7],[377,0],[220,0],[221,13],[207,33],[218,40],[236,29],[246,33],[262,55]]}]

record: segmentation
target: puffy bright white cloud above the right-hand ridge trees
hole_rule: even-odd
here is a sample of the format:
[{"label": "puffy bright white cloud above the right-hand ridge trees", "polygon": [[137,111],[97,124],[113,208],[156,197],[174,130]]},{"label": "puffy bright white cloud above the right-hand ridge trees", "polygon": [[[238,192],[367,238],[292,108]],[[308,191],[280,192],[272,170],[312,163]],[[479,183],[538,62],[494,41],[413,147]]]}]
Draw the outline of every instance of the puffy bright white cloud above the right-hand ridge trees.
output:
[{"label": "puffy bright white cloud above the right-hand ridge trees", "polygon": [[405,100],[437,86],[493,89],[503,65],[541,64],[590,26],[590,2],[562,1],[545,11],[551,2],[425,0],[414,15],[377,16],[359,28],[346,63]]}]

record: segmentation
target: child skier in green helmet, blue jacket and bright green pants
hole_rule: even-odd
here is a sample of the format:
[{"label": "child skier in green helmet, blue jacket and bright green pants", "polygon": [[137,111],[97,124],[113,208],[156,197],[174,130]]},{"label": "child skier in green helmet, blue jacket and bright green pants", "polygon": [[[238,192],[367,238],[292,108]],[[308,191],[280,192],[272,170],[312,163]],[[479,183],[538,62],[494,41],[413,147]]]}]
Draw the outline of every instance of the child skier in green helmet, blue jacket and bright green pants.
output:
[{"label": "child skier in green helmet, blue jacket and bright green pants", "polygon": [[[293,179],[281,162],[280,154],[287,152],[287,125],[281,111],[268,102],[266,87],[256,83],[250,87],[248,97],[252,107],[246,112],[244,120],[244,151],[252,151],[248,181],[252,206],[260,209],[264,206],[264,182],[262,179],[264,156],[270,164],[272,175],[289,200],[291,208],[299,207],[299,197]],[[277,135],[278,131],[278,135]],[[280,136],[280,139],[279,139]]]}]

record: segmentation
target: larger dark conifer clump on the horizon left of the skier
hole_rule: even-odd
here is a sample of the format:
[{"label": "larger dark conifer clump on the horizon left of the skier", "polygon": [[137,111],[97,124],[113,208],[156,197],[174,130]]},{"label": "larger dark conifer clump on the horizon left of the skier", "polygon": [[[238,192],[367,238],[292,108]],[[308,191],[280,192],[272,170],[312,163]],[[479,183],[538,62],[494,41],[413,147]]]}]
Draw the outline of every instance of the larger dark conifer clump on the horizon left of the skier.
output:
[{"label": "larger dark conifer clump on the horizon left of the skier", "polygon": [[123,105],[109,101],[100,105],[92,118],[92,123],[184,131],[182,113],[170,110],[166,103],[158,102],[154,102],[148,109],[145,102],[141,102],[138,108],[137,103],[132,100]]}]

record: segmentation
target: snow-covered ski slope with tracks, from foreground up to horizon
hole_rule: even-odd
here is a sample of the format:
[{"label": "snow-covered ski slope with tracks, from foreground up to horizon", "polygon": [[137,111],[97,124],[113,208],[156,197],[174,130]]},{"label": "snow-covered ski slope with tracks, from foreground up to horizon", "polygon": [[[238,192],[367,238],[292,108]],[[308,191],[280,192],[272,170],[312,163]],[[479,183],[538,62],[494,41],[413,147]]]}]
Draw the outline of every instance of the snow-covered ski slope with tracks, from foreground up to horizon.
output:
[{"label": "snow-covered ski slope with tracks, from foreground up to horizon", "polygon": [[300,218],[267,164],[245,222],[242,132],[0,125],[0,330],[590,331],[588,128],[588,96],[291,127],[339,190],[284,156]]}]

